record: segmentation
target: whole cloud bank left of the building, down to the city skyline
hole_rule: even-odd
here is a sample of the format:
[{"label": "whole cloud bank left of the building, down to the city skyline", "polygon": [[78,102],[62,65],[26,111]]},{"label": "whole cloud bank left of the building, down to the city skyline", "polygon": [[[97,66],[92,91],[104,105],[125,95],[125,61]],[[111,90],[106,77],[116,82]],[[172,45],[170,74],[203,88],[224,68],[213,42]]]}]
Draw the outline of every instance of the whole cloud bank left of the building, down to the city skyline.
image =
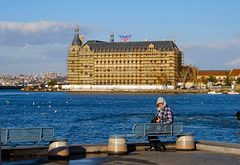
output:
[{"label": "whole cloud bank left of the building, down to the city skyline", "polygon": [[100,29],[74,22],[0,22],[0,75],[40,71],[65,74],[76,26],[85,37]]}]

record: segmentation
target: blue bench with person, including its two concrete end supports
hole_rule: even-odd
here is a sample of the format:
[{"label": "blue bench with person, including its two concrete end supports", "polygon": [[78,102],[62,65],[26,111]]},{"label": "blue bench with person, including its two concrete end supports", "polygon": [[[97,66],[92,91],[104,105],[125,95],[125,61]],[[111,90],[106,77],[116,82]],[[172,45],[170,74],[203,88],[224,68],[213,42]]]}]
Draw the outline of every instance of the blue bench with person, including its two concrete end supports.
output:
[{"label": "blue bench with person, including its two concrete end supports", "polygon": [[[130,140],[146,140],[149,142],[160,140],[158,136],[165,136],[168,138],[175,138],[176,150],[195,150],[195,144],[192,133],[183,133],[183,124],[180,122],[167,124],[167,123],[137,123],[133,125],[131,134],[123,135],[110,135],[108,142],[109,153],[127,152],[126,141]],[[137,137],[137,139],[136,139]],[[135,138],[135,139],[131,139]],[[161,139],[162,140],[162,139]],[[157,142],[158,143],[158,142]]]}]

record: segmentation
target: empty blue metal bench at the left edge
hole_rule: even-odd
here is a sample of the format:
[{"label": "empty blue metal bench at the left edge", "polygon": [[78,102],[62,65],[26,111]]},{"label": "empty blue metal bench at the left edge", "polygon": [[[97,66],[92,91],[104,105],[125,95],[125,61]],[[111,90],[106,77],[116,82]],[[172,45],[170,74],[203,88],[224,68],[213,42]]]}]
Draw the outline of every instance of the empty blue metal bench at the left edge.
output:
[{"label": "empty blue metal bench at the left edge", "polygon": [[52,127],[1,128],[1,143],[51,141],[54,137]]}]

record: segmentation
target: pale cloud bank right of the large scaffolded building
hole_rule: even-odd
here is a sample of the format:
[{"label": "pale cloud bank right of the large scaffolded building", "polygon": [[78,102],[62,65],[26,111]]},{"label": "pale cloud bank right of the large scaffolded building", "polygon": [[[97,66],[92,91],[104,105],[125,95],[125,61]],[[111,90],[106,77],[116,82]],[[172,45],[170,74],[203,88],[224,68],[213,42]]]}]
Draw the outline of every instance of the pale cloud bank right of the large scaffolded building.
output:
[{"label": "pale cloud bank right of the large scaffolded building", "polygon": [[240,68],[240,39],[238,38],[205,43],[180,43],[178,46],[186,50],[186,64],[196,65],[200,69]]}]

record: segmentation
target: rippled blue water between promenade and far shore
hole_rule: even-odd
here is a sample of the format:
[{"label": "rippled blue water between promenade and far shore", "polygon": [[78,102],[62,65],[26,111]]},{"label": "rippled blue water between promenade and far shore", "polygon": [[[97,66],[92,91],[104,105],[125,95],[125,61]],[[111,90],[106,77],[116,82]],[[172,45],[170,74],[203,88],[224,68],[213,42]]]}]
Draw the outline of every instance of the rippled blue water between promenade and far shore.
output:
[{"label": "rippled blue water between promenade and far shore", "polygon": [[195,140],[239,143],[240,95],[81,94],[0,90],[1,127],[54,127],[69,144],[107,143],[109,135],[130,133],[134,123],[150,122],[159,96],[174,121]]}]

